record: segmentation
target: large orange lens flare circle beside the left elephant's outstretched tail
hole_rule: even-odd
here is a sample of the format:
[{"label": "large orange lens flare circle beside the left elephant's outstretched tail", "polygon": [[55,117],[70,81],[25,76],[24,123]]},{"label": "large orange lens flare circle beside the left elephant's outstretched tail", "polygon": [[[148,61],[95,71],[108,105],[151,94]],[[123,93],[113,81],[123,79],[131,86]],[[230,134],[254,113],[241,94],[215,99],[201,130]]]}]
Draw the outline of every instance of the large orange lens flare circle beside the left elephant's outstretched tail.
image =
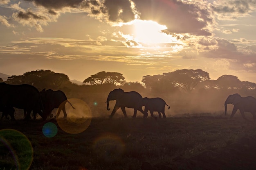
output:
[{"label": "large orange lens flare circle beside the left elephant's outstretched tail", "polygon": [[[67,118],[56,118],[60,128],[71,134],[77,134],[85,131],[91,123],[92,112],[90,107],[83,101],[77,98],[68,99],[73,105],[66,103]],[[66,101],[65,101],[66,102]]]}]

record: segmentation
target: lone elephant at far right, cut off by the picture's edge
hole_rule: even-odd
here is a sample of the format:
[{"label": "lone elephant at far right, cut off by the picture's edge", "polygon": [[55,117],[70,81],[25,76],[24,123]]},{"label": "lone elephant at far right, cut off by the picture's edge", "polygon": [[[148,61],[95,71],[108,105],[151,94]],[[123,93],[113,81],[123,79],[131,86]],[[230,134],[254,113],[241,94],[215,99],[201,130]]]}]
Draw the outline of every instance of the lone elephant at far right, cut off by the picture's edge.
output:
[{"label": "lone elephant at far right, cut off by the picture's edge", "polygon": [[245,112],[251,112],[254,120],[256,119],[256,98],[252,96],[241,97],[239,94],[231,94],[227,97],[225,101],[225,115],[227,115],[227,104],[233,104],[234,108],[232,110],[230,118],[233,118],[236,111],[239,109],[242,117],[245,118]]}]

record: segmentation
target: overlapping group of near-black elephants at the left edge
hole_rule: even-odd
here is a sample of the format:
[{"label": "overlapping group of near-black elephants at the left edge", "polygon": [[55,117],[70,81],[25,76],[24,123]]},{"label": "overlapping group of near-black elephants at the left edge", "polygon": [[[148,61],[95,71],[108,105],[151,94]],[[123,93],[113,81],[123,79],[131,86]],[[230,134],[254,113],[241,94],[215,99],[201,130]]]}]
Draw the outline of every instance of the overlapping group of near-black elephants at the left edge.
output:
[{"label": "overlapping group of near-black elephants at the left edge", "polygon": [[31,111],[33,111],[34,119],[36,119],[36,114],[38,113],[43,120],[46,120],[48,116],[53,116],[52,110],[54,108],[59,108],[56,117],[59,116],[62,110],[65,118],[67,116],[65,111],[66,102],[68,102],[67,97],[60,90],[43,89],[39,92],[32,85],[0,83],[0,112],[2,112],[2,118],[4,116],[7,118],[9,115],[12,120],[15,120],[13,107],[23,109],[25,119],[31,119]]}]

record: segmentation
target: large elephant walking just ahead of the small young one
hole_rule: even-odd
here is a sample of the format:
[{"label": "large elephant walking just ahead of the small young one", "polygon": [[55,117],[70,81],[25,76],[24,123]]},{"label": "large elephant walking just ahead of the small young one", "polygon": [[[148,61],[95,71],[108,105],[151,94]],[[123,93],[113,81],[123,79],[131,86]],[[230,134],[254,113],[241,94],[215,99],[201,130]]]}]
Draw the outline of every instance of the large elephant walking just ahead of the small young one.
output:
[{"label": "large elephant walking just ahead of the small young one", "polygon": [[127,118],[125,107],[134,109],[132,118],[136,118],[137,110],[139,110],[144,115],[144,111],[140,106],[140,102],[142,101],[142,96],[138,92],[135,92],[135,91],[124,92],[123,89],[114,89],[108,94],[108,98],[106,101],[107,110],[110,110],[109,109],[110,100],[116,100],[115,107],[111,115],[109,116],[110,118],[114,116],[114,114],[116,113],[117,109],[119,109],[119,107],[121,107],[121,110],[123,111],[125,118]]}]

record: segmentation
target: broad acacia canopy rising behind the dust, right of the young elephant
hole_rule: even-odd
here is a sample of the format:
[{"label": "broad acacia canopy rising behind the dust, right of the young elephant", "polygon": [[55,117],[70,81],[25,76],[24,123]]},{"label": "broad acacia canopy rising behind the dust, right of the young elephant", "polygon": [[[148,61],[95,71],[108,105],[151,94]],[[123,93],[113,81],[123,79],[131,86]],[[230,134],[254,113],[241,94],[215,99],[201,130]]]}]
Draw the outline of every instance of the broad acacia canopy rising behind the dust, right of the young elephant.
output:
[{"label": "broad acacia canopy rising behind the dust, right of the young elephant", "polygon": [[180,87],[186,92],[191,92],[198,83],[210,79],[209,73],[201,69],[182,69],[174,72],[163,73],[175,87]]}]

